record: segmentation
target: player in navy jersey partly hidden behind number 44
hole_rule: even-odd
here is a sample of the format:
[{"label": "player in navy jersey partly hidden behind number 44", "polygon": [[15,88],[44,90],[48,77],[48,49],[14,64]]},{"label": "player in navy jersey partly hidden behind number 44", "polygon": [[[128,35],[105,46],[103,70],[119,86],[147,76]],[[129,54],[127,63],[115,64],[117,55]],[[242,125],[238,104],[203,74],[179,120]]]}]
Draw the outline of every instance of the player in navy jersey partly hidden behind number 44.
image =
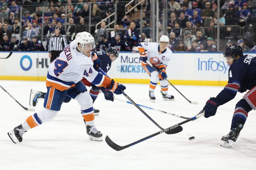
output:
[{"label": "player in navy jersey partly hidden behind number 44", "polygon": [[[98,70],[98,68],[96,66],[96,65],[98,65],[105,73],[108,72],[108,70],[111,67],[111,63],[113,61],[115,61],[116,58],[118,57],[118,51],[114,47],[108,48],[106,50],[106,52],[101,52],[101,51],[92,52],[91,55],[94,56],[94,54],[96,54],[96,56],[98,57],[98,60],[93,62],[93,68],[95,70]],[[84,85],[92,87],[91,90],[89,91],[89,94],[92,97],[93,103],[97,99],[100,91],[102,91],[104,93],[106,100],[114,101],[113,92],[110,92],[106,88],[97,87],[97,86],[93,85],[92,83],[90,83],[89,81],[87,81],[85,78],[83,78],[81,81],[84,83]],[[31,89],[29,105],[30,106],[33,105],[35,107],[38,100],[44,99],[45,94],[46,93],[44,93],[44,92],[34,91],[33,89]],[[63,102],[68,103],[70,100],[71,100],[71,98],[66,96],[66,98]],[[95,116],[100,114],[99,109],[93,108],[93,111],[94,111]]]}]

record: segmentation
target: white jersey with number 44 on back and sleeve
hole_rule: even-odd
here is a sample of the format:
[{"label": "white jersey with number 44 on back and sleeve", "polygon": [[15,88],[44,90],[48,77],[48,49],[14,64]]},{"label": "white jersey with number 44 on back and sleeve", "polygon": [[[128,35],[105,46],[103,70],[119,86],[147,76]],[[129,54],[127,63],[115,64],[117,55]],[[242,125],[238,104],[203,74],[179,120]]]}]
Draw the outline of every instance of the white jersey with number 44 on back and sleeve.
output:
[{"label": "white jersey with number 44 on back and sleeve", "polygon": [[93,69],[91,55],[87,57],[77,51],[74,40],[50,63],[46,86],[63,91],[74,87],[83,77],[96,86],[106,87],[111,83],[108,77]]}]

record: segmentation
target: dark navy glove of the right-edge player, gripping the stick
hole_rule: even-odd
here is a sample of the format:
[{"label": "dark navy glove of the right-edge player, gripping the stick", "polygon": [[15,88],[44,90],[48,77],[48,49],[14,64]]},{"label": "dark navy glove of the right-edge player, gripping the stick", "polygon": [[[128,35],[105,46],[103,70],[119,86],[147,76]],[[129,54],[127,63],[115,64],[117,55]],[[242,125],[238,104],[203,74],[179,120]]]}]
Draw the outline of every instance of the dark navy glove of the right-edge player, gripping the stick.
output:
[{"label": "dark navy glove of the right-edge player, gripping the stick", "polygon": [[217,108],[220,106],[220,102],[215,97],[211,97],[206,101],[204,106],[204,117],[208,118],[210,116],[214,116],[216,114]]}]

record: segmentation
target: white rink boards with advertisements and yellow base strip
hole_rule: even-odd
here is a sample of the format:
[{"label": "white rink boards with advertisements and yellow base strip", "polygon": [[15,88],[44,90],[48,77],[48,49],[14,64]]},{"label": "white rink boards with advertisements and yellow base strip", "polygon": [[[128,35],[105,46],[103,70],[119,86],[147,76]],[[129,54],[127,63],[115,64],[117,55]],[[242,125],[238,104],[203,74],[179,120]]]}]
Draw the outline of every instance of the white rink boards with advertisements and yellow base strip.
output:
[{"label": "white rink boards with advertisements and yellow base strip", "polygon": [[[48,52],[13,52],[9,58],[3,59],[8,55],[9,52],[0,53],[0,79],[45,81],[50,64]],[[176,52],[166,72],[172,84],[226,85],[228,69],[222,53]],[[120,52],[108,75],[120,83],[149,83],[139,53]]]}]

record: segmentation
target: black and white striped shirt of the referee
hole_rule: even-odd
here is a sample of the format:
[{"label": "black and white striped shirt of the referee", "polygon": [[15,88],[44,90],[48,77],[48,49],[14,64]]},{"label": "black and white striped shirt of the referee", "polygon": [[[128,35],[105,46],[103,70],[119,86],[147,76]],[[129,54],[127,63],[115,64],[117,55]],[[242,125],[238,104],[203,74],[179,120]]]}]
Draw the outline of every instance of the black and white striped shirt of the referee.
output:
[{"label": "black and white striped shirt of the referee", "polygon": [[49,41],[49,52],[62,51],[64,47],[68,45],[66,38],[63,35],[52,36]]}]

